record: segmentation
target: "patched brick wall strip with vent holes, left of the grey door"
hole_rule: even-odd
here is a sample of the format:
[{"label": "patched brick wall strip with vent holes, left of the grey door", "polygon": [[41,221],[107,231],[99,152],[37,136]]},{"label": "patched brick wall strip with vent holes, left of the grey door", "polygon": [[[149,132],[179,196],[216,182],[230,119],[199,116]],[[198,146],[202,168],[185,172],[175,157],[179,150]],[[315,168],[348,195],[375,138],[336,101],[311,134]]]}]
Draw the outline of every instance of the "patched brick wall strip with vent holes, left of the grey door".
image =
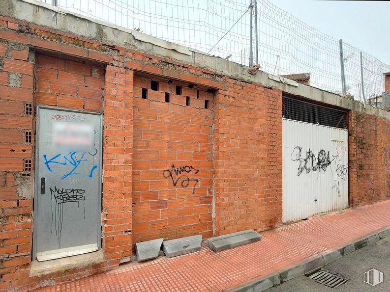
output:
[{"label": "patched brick wall strip with vent holes, left of the grey door", "polygon": [[0,42],[0,290],[23,285],[32,244],[33,63],[29,48]]}]

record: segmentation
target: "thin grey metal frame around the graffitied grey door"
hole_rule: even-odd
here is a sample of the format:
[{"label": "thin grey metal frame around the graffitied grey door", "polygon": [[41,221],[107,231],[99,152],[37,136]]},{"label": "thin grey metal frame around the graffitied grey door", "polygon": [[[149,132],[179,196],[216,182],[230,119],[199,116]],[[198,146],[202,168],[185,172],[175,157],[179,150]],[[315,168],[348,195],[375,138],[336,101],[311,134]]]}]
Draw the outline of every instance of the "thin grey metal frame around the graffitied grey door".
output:
[{"label": "thin grey metal frame around the graffitied grey door", "polygon": [[39,141],[39,114],[40,114],[40,111],[41,109],[52,109],[52,110],[61,110],[61,111],[67,111],[67,112],[75,112],[75,113],[83,113],[83,114],[93,114],[93,115],[97,115],[99,116],[99,127],[101,129],[101,151],[100,151],[100,154],[98,156],[98,161],[100,161],[100,165],[101,167],[99,167],[97,169],[98,171],[98,175],[99,175],[99,179],[100,179],[100,184],[98,186],[98,202],[100,204],[98,204],[98,212],[100,213],[100,224],[97,223],[96,224],[96,228],[97,228],[97,248],[100,249],[101,248],[101,226],[102,226],[102,220],[101,220],[101,211],[102,211],[102,184],[103,184],[103,179],[102,179],[102,169],[103,169],[103,136],[104,136],[104,133],[103,133],[103,114],[102,113],[97,113],[97,112],[93,112],[93,111],[88,111],[88,110],[77,110],[77,109],[69,109],[69,108],[64,108],[64,107],[59,107],[59,106],[36,106],[35,108],[35,133],[34,133],[34,146],[35,146],[35,159],[34,159],[34,179],[33,179],[33,182],[34,182],[34,187],[33,187],[33,191],[32,191],[32,195],[33,195],[33,209],[32,209],[32,226],[33,226],[33,229],[32,229],[32,260],[35,261],[36,260],[36,237],[37,237],[37,232],[35,232],[37,230],[37,218],[38,218],[38,212],[36,212],[37,210],[37,206],[38,206],[38,201],[39,201],[39,191],[40,191],[40,188],[39,188],[39,178],[38,178],[38,173],[39,173],[39,163],[38,162],[38,154],[39,154],[39,143],[37,141]]}]

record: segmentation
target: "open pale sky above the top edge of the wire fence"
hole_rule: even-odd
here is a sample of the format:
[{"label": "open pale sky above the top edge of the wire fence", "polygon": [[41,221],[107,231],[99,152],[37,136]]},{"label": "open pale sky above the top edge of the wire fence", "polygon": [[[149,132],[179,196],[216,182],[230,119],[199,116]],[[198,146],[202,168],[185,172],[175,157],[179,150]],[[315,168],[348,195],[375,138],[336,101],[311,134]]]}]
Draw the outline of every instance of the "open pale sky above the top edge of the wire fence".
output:
[{"label": "open pale sky above the top edge of the wire fence", "polygon": [[311,27],[390,64],[390,1],[270,1]]}]

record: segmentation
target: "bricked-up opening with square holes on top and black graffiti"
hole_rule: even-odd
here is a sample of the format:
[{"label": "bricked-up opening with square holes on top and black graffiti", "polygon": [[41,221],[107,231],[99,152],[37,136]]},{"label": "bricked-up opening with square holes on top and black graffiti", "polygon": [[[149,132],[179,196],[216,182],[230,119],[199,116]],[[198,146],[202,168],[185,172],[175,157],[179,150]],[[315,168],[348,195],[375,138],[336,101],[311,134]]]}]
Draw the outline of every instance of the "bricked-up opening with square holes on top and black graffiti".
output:
[{"label": "bricked-up opening with square holes on top and black graffiti", "polygon": [[134,79],[133,243],[210,237],[213,94],[181,86],[177,95],[175,83],[152,80],[157,91],[150,78]]}]

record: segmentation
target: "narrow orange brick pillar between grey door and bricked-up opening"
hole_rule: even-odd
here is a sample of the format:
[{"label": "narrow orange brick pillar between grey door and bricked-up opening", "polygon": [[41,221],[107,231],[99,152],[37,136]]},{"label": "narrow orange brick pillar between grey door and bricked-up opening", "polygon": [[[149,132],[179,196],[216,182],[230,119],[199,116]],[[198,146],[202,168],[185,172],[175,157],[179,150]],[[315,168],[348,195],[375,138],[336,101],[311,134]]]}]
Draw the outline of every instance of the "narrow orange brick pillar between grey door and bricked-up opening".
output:
[{"label": "narrow orange brick pillar between grey door and bricked-up opening", "polygon": [[[123,65],[123,64],[122,64]],[[103,249],[109,265],[131,256],[133,71],[107,66],[103,120]]]}]

